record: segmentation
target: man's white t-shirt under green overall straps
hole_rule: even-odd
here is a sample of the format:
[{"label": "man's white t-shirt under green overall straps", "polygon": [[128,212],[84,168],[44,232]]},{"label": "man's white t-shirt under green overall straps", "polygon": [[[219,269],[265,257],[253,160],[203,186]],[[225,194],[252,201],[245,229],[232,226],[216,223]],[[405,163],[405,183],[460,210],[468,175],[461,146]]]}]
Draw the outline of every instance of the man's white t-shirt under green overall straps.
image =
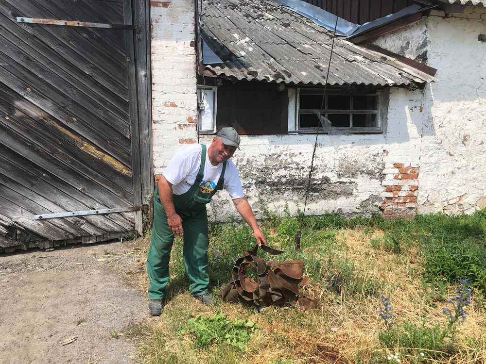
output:
[{"label": "man's white t-shirt under green overall straps", "polygon": [[[182,195],[189,191],[196,180],[197,172],[201,166],[201,145],[188,144],[177,149],[169,165],[164,168],[162,174],[172,183],[174,195]],[[201,185],[210,193],[218,184],[223,171],[223,163],[212,165],[206,149],[206,163],[204,164],[204,177]],[[226,162],[225,183],[223,188],[232,199],[244,197],[242,183],[236,166],[228,160]]]}]

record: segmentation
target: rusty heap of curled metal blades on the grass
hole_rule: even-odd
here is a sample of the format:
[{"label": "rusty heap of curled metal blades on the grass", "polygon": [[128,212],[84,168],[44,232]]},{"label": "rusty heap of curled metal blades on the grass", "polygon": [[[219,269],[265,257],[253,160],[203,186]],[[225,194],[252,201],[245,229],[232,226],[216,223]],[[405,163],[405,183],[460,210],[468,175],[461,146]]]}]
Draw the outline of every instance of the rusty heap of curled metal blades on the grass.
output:
[{"label": "rusty heap of curled metal blades on the grass", "polygon": [[[261,246],[263,251],[272,255],[283,251]],[[246,302],[258,307],[271,305],[282,306],[288,303],[296,304],[304,310],[316,308],[317,300],[300,294],[299,288],[309,283],[309,277],[304,277],[304,262],[295,259],[290,262],[265,262],[257,256],[258,245],[252,250],[244,251],[243,256],[236,260],[231,271],[231,281],[218,295],[225,302]],[[257,279],[245,276],[246,268],[253,265],[257,271]]]}]

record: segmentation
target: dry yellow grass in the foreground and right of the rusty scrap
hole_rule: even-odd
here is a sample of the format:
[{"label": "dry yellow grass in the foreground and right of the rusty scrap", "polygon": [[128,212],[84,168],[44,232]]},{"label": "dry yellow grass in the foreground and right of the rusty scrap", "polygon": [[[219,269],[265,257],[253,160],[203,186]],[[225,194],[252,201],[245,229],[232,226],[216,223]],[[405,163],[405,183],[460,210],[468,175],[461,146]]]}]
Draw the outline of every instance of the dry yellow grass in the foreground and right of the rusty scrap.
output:
[{"label": "dry yellow grass in the foreground and right of the rusty scrap", "polygon": [[[391,296],[398,321],[408,320],[419,324],[427,317],[429,325],[443,322],[441,310],[446,303],[439,302],[436,307],[427,304],[428,296],[421,284],[422,271],[417,250],[411,248],[407,254],[394,255],[373,249],[370,239],[379,238],[382,234],[374,232],[370,236],[363,230],[339,230],[336,241],[342,249],[334,251],[335,256],[353,262],[365,275],[384,282],[383,292],[378,294]],[[148,288],[145,259],[149,243],[148,237],[137,241],[135,251],[139,254],[139,262],[125,276],[130,284],[142,292]],[[207,307],[192,299],[185,287],[179,287],[180,290],[175,291],[163,314],[144,324],[138,336],[140,360],[143,363],[184,364],[380,363],[372,361],[375,354],[381,352],[378,333],[383,326],[378,316],[379,295],[374,298],[353,298],[341,294],[339,297],[325,287],[324,282],[314,284],[311,294],[321,298],[321,305],[319,310],[305,313],[295,308],[274,307],[256,313],[241,305],[221,301]],[[486,363],[486,314],[482,307],[482,302],[473,300],[467,309],[468,319],[459,327],[458,338],[463,350],[436,363]],[[214,314],[216,311],[230,319],[245,317],[260,327],[252,335],[248,351],[238,353],[221,346],[201,350],[188,336],[177,334],[189,318]],[[479,338],[477,344],[467,342],[471,336]],[[473,346],[477,348],[476,351]],[[385,354],[381,356],[386,358]],[[414,358],[401,359],[404,364],[415,363]]]}]

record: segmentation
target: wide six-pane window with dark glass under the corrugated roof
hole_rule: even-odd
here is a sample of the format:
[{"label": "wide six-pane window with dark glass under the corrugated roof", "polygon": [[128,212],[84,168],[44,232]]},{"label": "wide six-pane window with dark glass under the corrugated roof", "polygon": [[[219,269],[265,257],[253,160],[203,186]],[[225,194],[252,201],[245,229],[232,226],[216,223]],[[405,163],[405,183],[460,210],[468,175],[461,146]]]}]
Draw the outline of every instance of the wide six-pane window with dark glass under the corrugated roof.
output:
[{"label": "wide six-pane window with dark glass under the corrugated roof", "polygon": [[[331,127],[343,132],[382,132],[382,92],[350,93],[348,90],[299,89],[297,96],[297,131],[315,132],[316,112],[330,120]],[[322,132],[322,127],[319,126]]]}]

